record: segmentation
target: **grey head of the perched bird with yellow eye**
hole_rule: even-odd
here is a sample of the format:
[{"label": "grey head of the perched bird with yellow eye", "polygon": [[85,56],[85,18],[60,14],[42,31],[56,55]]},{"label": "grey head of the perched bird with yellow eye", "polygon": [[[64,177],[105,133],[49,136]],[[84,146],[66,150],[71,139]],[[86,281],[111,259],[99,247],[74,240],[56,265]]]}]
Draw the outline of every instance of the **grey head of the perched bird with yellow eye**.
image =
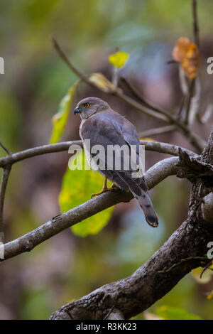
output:
[{"label": "grey head of the perched bird with yellow eye", "polygon": [[98,97],[86,97],[78,102],[74,114],[80,114],[82,119],[87,119],[97,112],[110,109],[109,104]]}]

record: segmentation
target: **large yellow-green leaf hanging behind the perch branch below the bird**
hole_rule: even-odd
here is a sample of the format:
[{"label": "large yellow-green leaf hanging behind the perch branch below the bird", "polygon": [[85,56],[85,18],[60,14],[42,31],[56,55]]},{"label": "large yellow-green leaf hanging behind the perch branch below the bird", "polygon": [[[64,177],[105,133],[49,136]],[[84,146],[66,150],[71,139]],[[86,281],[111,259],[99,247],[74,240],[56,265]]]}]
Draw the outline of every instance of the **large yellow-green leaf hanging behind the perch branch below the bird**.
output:
[{"label": "large yellow-green leaf hanging behind the perch branch below the bird", "polygon": [[[77,164],[78,168],[85,166],[84,170],[70,170]],[[62,212],[66,212],[77,205],[80,205],[91,198],[92,193],[97,193],[102,189],[103,177],[98,172],[93,172],[87,164],[87,159],[84,157],[84,151],[81,151],[69,163],[70,168],[62,180],[62,190],[59,195],[59,204]],[[108,208],[102,212],[93,215],[92,217],[79,222],[71,227],[72,232],[80,237],[87,235],[96,235],[102,228],[107,225],[111,217],[113,208]]]}]

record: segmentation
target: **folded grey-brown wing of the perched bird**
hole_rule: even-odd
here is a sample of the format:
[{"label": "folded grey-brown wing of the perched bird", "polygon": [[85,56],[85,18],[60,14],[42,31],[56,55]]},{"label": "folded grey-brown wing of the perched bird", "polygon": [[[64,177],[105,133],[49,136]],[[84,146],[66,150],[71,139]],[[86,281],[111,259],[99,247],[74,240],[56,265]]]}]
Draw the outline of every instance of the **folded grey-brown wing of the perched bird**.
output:
[{"label": "folded grey-brown wing of the perched bird", "polygon": [[[98,153],[98,162],[99,166],[101,166],[99,169],[104,175],[107,175],[108,178],[120,185],[124,190],[133,187],[133,191],[138,194],[138,187],[147,190],[142,177],[133,178],[133,173],[136,172],[136,166],[140,166],[141,168],[139,156],[140,141],[135,127],[127,119],[111,111],[95,114],[84,122],[82,126],[82,138],[84,141],[85,139],[90,140],[89,150],[92,158],[95,158]],[[104,151],[99,153],[97,145],[101,145]],[[121,146],[124,145],[129,148],[130,146],[134,146],[136,150],[136,157],[133,155],[134,159],[131,154],[124,154],[124,151],[121,150]],[[121,168],[116,168],[114,158],[113,161],[111,161],[109,146],[114,146],[114,157],[116,156],[116,158],[120,159]],[[125,166],[129,166],[129,168],[126,170]],[[132,187],[127,187],[126,181],[128,181],[128,184],[131,184]]]}]

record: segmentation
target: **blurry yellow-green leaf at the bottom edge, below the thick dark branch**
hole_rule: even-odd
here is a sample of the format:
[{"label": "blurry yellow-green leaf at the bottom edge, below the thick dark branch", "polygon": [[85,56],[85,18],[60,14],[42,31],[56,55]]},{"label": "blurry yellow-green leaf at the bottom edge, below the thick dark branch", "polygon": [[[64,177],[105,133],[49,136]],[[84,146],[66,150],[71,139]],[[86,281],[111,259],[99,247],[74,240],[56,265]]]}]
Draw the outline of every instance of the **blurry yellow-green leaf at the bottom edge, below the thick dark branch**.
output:
[{"label": "blurry yellow-green leaf at the bottom edge, below the thick dark branch", "polygon": [[184,308],[175,308],[172,306],[160,306],[157,308],[156,314],[165,320],[202,320],[200,316],[187,313]]}]

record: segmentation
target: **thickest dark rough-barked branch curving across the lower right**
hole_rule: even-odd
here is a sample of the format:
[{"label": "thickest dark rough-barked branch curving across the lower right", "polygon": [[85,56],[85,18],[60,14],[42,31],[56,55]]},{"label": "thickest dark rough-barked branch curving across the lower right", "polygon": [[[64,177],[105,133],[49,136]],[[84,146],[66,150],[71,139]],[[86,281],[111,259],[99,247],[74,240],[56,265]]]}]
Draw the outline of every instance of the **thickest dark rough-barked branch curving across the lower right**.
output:
[{"label": "thickest dark rough-barked branch curving across the lower right", "polygon": [[205,254],[207,243],[212,238],[213,231],[209,233],[197,221],[187,220],[158,252],[131,276],[104,285],[89,295],[62,306],[53,313],[50,320],[70,319],[69,314],[74,320],[104,319],[113,306],[124,314],[125,319],[145,311],[173,289],[193,268],[204,266],[209,260],[200,262],[191,259],[182,262],[168,273],[160,274],[159,271],[170,268],[186,257]]}]

